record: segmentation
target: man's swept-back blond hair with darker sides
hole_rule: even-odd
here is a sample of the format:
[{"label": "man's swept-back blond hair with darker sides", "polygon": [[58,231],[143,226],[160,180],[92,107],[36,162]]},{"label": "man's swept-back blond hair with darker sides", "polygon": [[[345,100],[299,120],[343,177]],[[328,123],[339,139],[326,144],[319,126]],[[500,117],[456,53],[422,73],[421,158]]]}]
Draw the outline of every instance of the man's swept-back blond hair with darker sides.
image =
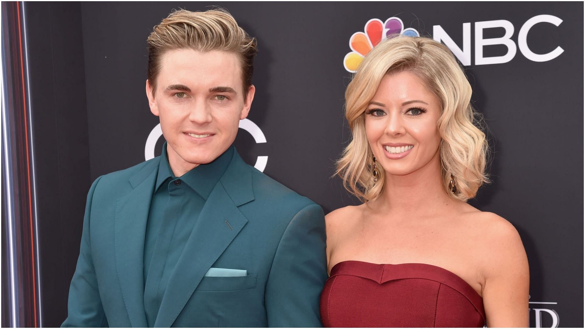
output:
[{"label": "man's swept-back blond hair with darker sides", "polygon": [[160,73],[161,56],[169,50],[192,49],[198,52],[220,50],[238,55],[242,67],[244,95],[252,85],[256,38],[250,37],[236,20],[223,9],[171,12],[154,26],[148,39],[148,80],[152,92]]}]

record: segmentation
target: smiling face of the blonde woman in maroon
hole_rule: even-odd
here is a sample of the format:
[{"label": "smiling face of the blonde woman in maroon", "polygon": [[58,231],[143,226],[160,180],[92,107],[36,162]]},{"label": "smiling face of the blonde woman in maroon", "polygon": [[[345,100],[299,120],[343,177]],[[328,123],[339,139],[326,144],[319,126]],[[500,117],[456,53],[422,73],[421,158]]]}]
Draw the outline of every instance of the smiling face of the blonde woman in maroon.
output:
[{"label": "smiling face of the blonde woman in maroon", "polygon": [[415,74],[387,74],[365,115],[366,136],[378,169],[405,175],[428,166],[437,155],[441,101]]}]

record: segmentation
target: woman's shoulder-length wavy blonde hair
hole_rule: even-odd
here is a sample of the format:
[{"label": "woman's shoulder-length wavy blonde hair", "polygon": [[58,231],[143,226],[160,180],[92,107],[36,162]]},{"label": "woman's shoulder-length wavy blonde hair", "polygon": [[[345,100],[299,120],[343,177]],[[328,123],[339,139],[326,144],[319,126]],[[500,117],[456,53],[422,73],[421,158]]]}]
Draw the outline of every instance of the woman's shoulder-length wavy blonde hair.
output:
[{"label": "woman's shoulder-length wavy blonde hair", "polygon": [[[489,182],[484,173],[488,145],[480,130],[483,118],[470,103],[471,85],[449,48],[427,37],[398,36],[384,40],[360,63],[345,91],[345,116],[352,139],[336,163],[335,174],[363,202],[380,196],[385,184],[384,170],[377,170],[379,177],[374,184],[364,111],[382,78],[402,71],[414,73],[441,100],[437,125],[442,138],[439,150],[443,189],[457,200],[475,197],[481,184]],[[450,191],[451,175],[456,193]]]}]

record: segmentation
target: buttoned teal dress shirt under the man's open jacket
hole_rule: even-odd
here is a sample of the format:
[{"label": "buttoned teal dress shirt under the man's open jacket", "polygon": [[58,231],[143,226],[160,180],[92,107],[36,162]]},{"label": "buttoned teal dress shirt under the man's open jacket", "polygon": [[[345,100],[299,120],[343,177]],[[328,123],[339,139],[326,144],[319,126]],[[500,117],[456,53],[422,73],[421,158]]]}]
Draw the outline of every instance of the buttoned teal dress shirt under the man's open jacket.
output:
[{"label": "buttoned teal dress shirt under the man's open jacket", "polygon": [[233,155],[233,148],[229,148],[213,162],[177,178],[168,164],[166,146],[160,157],[144,241],[144,312],[149,327],[156,322],[168,279],[199,213]]}]

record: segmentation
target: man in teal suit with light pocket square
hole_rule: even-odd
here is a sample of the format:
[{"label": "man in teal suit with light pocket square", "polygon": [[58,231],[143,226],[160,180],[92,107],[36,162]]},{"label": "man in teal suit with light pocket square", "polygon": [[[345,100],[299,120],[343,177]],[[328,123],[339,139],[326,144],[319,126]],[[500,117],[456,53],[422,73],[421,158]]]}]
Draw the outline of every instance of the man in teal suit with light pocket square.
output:
[{"label": "man in teal suit with light pocket square", "polygon": [[231,146],[256,40],[226,12],[177,11],[148,43],[167,143],[92,184],[63,326],[321,326],[323,211]]}]

